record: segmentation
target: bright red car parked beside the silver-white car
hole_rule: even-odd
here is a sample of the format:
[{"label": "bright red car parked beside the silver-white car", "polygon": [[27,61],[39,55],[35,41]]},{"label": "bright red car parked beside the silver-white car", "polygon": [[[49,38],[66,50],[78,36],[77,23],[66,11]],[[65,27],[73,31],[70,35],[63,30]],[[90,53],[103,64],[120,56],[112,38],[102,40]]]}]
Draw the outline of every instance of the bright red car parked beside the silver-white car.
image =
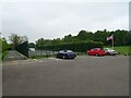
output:
[{"label": "bright red car parked beside the silver-white car", "polygon": [[88,56],[105,56],[106,52],[100,48],[93,48],[91,50],[87,50],[87,54]]}]

